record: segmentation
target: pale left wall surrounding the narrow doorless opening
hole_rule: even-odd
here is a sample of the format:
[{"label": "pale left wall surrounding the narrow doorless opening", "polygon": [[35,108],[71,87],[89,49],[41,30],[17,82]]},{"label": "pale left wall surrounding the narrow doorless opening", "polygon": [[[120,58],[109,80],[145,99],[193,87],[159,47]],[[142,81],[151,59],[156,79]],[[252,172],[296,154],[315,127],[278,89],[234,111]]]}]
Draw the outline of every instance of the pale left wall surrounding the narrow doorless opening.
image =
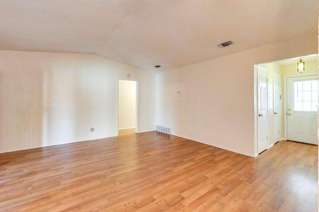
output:
[{"label": "pale left wall surrounding the narrow doorless opening", "polygon": [[116,136],[126,73],[140,83],[140,132],[155,130],[155,74],[92,54],[0,51],[0,152]]}]

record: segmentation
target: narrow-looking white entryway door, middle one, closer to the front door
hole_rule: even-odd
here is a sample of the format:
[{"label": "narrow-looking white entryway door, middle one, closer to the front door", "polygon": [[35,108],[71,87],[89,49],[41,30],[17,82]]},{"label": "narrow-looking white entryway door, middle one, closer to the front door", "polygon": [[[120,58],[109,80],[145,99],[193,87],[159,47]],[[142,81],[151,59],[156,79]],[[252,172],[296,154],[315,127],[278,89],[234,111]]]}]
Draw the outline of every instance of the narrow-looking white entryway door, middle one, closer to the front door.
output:
[{"label": "narrow-looking white entryway door, middle one, closer to the front door", "polygon": [[280,79],[279,75],[274,74],[274,143],[279,141],[280,137]]}]

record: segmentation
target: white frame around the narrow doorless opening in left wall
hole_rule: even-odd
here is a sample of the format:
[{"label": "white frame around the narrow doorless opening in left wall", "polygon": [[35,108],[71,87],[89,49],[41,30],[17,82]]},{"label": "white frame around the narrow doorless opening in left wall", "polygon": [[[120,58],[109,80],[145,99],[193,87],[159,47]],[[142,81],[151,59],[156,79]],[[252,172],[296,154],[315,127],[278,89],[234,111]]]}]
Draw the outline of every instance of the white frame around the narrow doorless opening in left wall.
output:
[{"label": "white frame around the narrow doorless opening in left wall", "polygon": [[117,78],[116,81],[116,135],[119,136],[119,81],[126,80],[126,81],[135,81],[136,82],[136,100],[135,100],[135,132],[139,133],[139,80],[134,79],[126,79],[126,78]]}]

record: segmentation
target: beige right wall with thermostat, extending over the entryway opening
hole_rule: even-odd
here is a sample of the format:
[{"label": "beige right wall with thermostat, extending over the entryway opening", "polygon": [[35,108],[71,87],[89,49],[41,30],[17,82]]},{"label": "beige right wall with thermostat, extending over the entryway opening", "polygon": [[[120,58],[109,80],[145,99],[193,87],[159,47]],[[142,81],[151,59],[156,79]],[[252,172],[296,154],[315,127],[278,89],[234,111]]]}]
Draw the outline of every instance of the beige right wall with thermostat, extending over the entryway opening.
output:
[{"label": "beige right wall with thermostat, extending over the entryway opening", "polygon": [[171,127],[174,135],[254,157],[254,64],[316,53],[314,33],[158,73],[156,124]]}]

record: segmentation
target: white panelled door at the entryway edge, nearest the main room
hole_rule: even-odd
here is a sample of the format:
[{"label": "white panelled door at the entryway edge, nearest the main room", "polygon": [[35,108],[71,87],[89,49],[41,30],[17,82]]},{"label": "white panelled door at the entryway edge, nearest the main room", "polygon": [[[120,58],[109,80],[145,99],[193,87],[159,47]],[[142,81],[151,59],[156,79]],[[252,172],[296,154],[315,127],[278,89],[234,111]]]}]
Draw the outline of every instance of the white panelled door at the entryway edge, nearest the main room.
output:
[{"label": "white panelled door at the entryway edge, nearest the main room", "polygon": [[267,70],[258,66],[258,154],[267,149]]}]

